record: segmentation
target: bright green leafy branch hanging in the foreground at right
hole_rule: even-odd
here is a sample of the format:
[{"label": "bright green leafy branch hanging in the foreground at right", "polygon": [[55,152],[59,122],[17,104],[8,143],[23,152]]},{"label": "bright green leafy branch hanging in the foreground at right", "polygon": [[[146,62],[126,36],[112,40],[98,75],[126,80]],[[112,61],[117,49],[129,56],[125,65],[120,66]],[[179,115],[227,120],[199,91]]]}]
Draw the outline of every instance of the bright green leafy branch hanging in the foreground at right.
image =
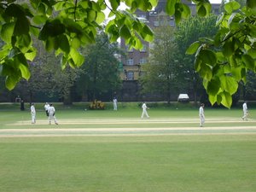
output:
[{"label": "bright green leafy branch hanging in the foreground at right", "polygon": [[247,71],[256,72],[256,2],[247,0],[247,7],[240,8],[235,1],[226,3],[215,37],[201,38],[187,50],[195,54],[195,70],[210,102],[227,108],[240,81],[247,82]]}]

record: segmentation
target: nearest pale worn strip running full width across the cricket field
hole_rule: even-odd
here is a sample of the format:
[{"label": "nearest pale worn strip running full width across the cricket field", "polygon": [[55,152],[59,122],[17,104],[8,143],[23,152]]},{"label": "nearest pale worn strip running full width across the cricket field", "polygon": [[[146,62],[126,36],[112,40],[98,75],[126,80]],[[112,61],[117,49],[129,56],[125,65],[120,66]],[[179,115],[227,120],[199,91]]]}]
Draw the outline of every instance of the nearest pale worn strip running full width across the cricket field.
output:
[{"label": "nearest pale worn strip running full width across the cricket field", "polygon": [[72,136],[154,136],[154,135],[256,134],[256,126],[179,127],[179,128],[68,128],[4,129],[0,137],[72,137]]}]

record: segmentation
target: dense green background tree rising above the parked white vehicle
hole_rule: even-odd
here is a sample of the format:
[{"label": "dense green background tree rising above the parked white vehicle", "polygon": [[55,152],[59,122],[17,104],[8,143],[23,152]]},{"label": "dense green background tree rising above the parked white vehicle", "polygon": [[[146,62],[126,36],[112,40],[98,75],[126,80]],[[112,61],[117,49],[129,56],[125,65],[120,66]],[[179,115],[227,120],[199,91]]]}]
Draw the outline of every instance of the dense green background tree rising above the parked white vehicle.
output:
[{"label": "dense green background tree rising above the parked white vehicle", "polygon": [[178,49],[178,79],[179,82],[186,83],[183,84],[185,90],[192,88],[195,103],[198,93],[202,90],[202,81],[199,74],[195,72],[194,57],[186,55],[186,49],[199,38],[212,38],[218,30],[218,27],[215,26],[216,19],[216,15],[190,17],[189,20],[181,21],[175,32],[175,42]]}]

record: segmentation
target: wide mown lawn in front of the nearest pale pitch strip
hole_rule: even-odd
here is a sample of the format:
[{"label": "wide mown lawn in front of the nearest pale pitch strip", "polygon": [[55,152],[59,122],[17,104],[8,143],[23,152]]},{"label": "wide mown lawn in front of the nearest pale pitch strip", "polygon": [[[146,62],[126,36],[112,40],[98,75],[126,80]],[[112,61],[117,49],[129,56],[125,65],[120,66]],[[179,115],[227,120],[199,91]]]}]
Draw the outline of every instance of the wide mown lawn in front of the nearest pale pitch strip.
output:
[{"label": "wide mown lawn in front of the nearest pale pitch strip", "polygon": [[255,138],[1,138],[0,191],[253,192]]}]

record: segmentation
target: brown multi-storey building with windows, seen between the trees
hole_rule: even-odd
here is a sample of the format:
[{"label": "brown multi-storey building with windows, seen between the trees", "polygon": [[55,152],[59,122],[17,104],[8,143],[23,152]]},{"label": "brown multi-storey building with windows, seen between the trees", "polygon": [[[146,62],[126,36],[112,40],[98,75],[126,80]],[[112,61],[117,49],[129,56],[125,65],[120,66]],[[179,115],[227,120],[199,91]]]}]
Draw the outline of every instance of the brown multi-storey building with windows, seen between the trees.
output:
[{"label": "brown multi-storey building with windows, seen between the trees", "polygon": [[[186,3],[192,15],[195,15],[195,4],[189,3],[186,0],[182,0]],[[219,13],[219,3],[212,4],[212,12],[216,15]],[[143,12],[137,10],[136,15],[141,20],[145,20],[147,25],[154,31],[154,28],[162,26],[163,22],[168,22],[168,25],[175,27],[175,18],[173,16],[166,15],[166,0],[159,0],[158,6],[149,12]],[[125,40],[121,39],[121,49],[125,50],[126,56],[121,56],[121,63],[123,64],[123,73],[121,73],[121,79],[123,81],[123,89],[121,90],[120,97],[123,101],[142,101],[143,96],[139,94],[138,79],[142,75],[141,67],[144,63],[148,62],[150,44],[143,42],[143,49],[128,49],[125,45]],[[159,96],[147,96],[148,100],[159,101],[163,100]]]}]

